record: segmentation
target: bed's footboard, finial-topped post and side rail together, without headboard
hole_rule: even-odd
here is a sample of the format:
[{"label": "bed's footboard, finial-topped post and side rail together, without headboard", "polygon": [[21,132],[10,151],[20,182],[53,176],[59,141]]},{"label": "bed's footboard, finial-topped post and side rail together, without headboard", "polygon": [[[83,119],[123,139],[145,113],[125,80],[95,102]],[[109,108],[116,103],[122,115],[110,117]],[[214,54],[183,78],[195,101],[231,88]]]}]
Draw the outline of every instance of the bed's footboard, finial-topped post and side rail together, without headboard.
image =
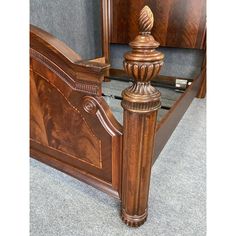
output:
[{"label": "bed's footboard, finial-topped post and side rail together, without headboard", "polygon": [[[123,126],[102,96],[105,59],[84,61],[49,33],[30,28],[30,155],[121,200],[125,224],[147,219],[151,167],[193,98],[202,74],[157,123],[160,93],[150,84],[163,64],[150,34],[151,10],[124,69],[133,85],[122,92]],[[108,53],[108,52],[107,52]]]}]

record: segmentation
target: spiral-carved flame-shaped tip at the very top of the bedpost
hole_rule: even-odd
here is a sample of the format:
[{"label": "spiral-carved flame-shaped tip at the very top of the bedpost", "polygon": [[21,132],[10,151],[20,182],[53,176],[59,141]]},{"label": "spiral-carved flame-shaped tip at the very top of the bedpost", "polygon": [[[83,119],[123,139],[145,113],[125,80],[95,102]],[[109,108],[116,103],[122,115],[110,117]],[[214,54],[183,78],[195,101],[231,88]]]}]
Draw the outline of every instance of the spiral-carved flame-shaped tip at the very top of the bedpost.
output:
[{"label": "spiral-carved flame-shaped tip at the very top of the bedpost", "polygon": [[153,27],[154,17],[151,9],[145,6],[139,16],[139,32],[141,34],[150,34]]}]

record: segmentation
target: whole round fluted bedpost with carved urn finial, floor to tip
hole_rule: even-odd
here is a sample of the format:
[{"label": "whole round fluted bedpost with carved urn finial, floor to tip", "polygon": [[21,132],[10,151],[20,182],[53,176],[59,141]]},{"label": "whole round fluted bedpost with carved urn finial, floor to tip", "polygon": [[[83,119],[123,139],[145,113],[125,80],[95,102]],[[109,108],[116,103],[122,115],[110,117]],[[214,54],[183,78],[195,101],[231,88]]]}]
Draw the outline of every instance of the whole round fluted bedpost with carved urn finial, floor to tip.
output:
[{"label": "whole round fluted bedpost with carved urn finial, floor to tip", "polygon": [[147,205],[157,112],[160,93],[150,84],[163,65],[164,55],[155,50],[159,43],[151,35],[153,14],[145,6],[139,16],[139,35],[124,55],[124,69],[134,78],[122,92],[124,108],[122,220],[129,226],[142,225]]}]

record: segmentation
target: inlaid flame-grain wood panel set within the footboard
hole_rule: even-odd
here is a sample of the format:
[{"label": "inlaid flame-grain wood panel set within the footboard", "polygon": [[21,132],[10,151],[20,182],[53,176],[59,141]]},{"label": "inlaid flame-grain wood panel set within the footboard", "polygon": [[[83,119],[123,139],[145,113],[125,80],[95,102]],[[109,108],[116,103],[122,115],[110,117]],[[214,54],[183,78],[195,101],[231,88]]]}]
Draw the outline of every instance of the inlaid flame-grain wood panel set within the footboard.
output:
[{"label": "inlaid flame-grain wood panel set within the footboard", "polygon": [[[36,113],[31,111],[32,137],[75,159],[102,168],[101,140],[88,126],[79,110],[73,107],[63,93],[46,78],[36,73],[33,78],[31,83],[37,89],[35,97],[37,96],[36,99],[39,100],[42,113],[38,114],[38,110]],[[34,132],[34,124],[37,124],[38,117],[42,117],[43,120],[36,127],[45,130],[46,135]]]}]

